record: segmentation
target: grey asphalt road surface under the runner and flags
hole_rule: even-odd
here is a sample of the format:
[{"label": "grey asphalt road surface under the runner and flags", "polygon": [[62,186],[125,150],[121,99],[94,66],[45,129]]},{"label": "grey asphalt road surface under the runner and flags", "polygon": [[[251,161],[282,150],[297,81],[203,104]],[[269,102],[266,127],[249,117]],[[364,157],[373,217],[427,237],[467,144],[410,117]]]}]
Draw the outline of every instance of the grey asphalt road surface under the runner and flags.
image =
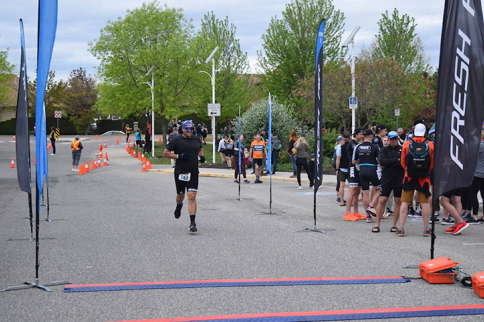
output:
[{"label": "grey asphalt road surface under the runner and flags", "polygon": [[[57,143],[48,156],[49,217],[41,206],[40,282],[73,284],[159,282],[256,278],[407,276],[408,266],[430,259],[430,237],[421,236],[416,219],[406,236],[372,233],[364,220],[342,220],[333,186],[316,197],[317,227],[326,233],[296,232],[313,228],[313,190],[293,182],[238,185],[232,179],[201,177],[196,233],[188,232],[185,203],[175,219],[173,175],[141,173],[117,137],[83,140],[81,162],[91,162],[99,144],[109,166],[80,176],[71,172],[70,141]],[[32,155],[34,154],[34,138]],[[28,198],[20,191],[15,144],[0,137],[0,289],[35,282],[35,242],[8,240],[30,235]],[[154,166],[162,168],[162,166]],[[35,167],[32,167],[35,182]],[[306,187],[305,187],[306,188]],[[33,189],[35,192],[35,188]],[[33,195],[35,196],[35,194]],[[270,202],[272,197],[272,202]],[[258,214],[260,212],[275,214]],[[34,197],[35,211],[35,197]],[[445,234],[436,225],[435,257],[460,262],[461,271],[484,271],[484,225],[461,235]],[[429,284],[307,285],[147,289],[65,293],[28,288],[0,292],[0,321],[118,321],[180,316],[346,310],[484,304],[469,288]],[[395,319],[381,319],[390,321]],[[399,318],[398,321],[482,321],[484,315]]]}]

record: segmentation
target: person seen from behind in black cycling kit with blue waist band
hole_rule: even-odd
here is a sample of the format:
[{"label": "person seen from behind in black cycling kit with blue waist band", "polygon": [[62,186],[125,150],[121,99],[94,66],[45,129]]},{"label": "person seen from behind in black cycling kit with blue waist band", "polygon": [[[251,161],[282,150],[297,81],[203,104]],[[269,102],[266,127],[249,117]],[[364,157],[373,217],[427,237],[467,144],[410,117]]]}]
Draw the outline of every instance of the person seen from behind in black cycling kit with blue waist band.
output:
[{"label": "person seen from behind in black cycling kit with blue waist band", "polygon": [[[378,175],[378,152],[377,145],[372,143],[373,131],[366,129],[363,131],[363,142],[356,145],[353,151],[352,163],[359,165],[359,183],[363,191],[363,207],[367,211],[367,222],[372,222],[372,216],[376,216],[377,211],[372,207],[378,203],[380,196],[380,176]],[[370,182],[375,188],[373,199],[370,201]]]}]

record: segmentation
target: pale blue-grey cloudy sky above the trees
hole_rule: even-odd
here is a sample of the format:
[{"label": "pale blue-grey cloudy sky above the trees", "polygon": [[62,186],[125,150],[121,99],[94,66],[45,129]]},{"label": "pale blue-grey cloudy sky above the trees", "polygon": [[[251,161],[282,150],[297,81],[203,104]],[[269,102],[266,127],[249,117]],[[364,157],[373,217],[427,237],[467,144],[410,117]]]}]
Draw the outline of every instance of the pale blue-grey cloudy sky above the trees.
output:
[{"label": "pale blue-grey cloudy sky above the trees", "polygon": [[[240,40],[241,49],[248,54],[252,67],[257,72],[257,50],[262,49],[262,34],[266,33],[271,18],[282,18],[285,4],[281,0],[166,0],[168,7],[183,8],[187,18],[192,18],[198,29],[203,16],[213,11],[216,18],[235,25],[235,37]],[[59,0],[57,33],[50,69],[55,71],[56,81],[67,81],[73,69],[86,68],[95,76],[98,61],[87,50],[87,43],[99,36],[99,30],[107,21],[125,17],[126,10],[139,8],[141,0]],[[356,27],[355,53],[362,46],[368,46],[378,33],[377,22],[381,15],[390,14],[397,8],[400,16],[407,14],[415,19],[416,32],[430,55],[432,65],[439,63],[440,38],[444,1],[442,0],[334,0],[335,9],[345,15],[345,33],[342,41]],[[27,51],[27,71],[35,78],[37,55],[37,0],[5,0],[0,9],[0,50],[9,48],[9,61],[20,64],[20,25],[24,23]]]}]

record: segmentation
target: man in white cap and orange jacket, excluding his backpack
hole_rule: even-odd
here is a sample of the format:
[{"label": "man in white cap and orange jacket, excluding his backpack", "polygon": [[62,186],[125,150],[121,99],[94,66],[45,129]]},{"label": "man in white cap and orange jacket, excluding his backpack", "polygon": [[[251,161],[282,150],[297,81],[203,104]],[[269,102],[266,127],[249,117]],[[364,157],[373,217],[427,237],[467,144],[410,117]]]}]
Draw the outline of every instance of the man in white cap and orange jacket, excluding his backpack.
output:
[{"label": "man in white cap and orange jacket, excluding his backpack", "polygon": [[413,193],[414,191],[417,192],[418,198],[420,201],[421,212],[422,212],[422,219],[423,219],[423,236],[430,236],[432,231],[429,227],[429,217],[430,217],[430,208],[429,208],[429,197],[430,193],[430,178],[429,176],[425,178],[411,178],[408,176],[407,171],[407,164],[406,158],[407,153],[409,151],[409,145],[412,142],[425,142],[429,147],[429,155],[430,155],[430,167],[429,170],[434,168],[434,143],[427,140],[423,137],[426,133],[427,129],[425,124],[417,123],[412,131],[412,137],[409,140],[406,140],[402,146],[402,154],[400,157],[400,164],[402,168],[405,170],[405,174],[403,177],[403,184],[402,184],[402,206],[400,212],[400,218],[398,219],[398,236],[404,236],[404,224],[408,214],[408,205],[413,202]]}]

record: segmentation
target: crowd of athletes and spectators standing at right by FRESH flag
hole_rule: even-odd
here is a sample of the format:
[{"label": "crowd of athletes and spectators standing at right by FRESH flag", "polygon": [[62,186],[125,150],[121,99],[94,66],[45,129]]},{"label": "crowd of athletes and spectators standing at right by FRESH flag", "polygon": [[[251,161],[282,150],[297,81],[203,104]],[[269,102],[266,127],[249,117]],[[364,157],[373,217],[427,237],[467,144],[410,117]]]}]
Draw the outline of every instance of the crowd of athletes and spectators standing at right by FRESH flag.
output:
[{"label": "crowd of athletes and spectators standing at right by FRESH flag", "polygon": [[[460,234],[469,224],[484,222],[482,217],[478,218],[477,201],[477,193],[484,194],[484,131],[471,187],[444,192],[439,200],[434,200],[436,207],[431,214],[433,131],[435,127],[429,130],[427,138],[425,121],[416,119],[406,135],[402,128],[387,132],[385,125],[378,124],[371,129],[355,128],[352,138],[348,131],[338,136],[335,144],[337,202],[346,207],[343,219],[374,222],[375,218],[372,231],[380,232],[381,219],[393,215],[390,231],[398,236],[405,235],[407,217],[422,219],[423,236],[432,235],[432,221],[450,225],[444,231],[454,235]],[[349,185],[347,201],[344,200],[346,181]],[[358,210],[360,193],[364,213]],[[442,219],[439,218],[441,207]]]}]

